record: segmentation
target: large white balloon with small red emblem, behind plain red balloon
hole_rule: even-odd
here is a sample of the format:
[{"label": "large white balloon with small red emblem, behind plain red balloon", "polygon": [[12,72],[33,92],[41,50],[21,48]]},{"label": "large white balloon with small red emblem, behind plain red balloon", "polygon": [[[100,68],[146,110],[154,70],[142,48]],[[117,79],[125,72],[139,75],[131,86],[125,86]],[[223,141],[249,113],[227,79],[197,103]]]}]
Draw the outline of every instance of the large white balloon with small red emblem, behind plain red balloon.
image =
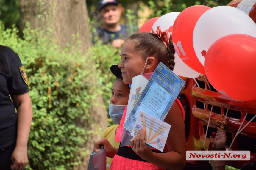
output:
[{"label": "large white balloon with small red emblem, behind plain red balloon", "polygon": [[196,22],[193,46],[197,58],[205,65],[205,54],[219,38],[229,34],[247,34],[256,37],[256,25],[245,12],[230,6],[207,10]]}]

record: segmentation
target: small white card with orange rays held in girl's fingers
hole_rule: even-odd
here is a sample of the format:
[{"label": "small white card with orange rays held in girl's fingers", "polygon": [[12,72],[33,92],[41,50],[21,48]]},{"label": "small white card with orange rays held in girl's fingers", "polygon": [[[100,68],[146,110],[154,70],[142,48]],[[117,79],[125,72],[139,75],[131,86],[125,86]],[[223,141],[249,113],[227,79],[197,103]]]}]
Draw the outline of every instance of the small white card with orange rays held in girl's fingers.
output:
[{"label": "small white card with orange rays held in girl's fingers", "polygon": [[136,136],[140,128],[145,129],[146,144],[163,152],[171,125],[143,111],[139,111],[139,115],[131,135]]}]

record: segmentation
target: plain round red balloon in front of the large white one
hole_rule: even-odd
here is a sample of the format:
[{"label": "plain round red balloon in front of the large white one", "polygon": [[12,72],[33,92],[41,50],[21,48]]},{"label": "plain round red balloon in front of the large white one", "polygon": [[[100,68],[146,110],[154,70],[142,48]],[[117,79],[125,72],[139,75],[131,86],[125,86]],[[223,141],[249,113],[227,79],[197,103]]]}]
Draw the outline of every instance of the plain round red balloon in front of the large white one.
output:
[{"label": "plain round red balloon in front of the large white one", "polygon": [[229,34],[216,40],[205,56],[205,73],[222,95],[235,100],[256,99],[256,38]]}]

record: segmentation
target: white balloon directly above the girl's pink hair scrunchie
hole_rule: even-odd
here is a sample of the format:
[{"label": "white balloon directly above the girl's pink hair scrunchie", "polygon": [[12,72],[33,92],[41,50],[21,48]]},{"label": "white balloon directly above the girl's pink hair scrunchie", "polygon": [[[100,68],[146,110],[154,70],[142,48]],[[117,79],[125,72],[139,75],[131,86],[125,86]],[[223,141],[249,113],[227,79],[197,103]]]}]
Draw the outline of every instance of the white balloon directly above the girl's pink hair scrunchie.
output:
[{"label": "white balloon directly above the girl's pink hair scrunchie", "polygon": [[161,16],[157,19],[152,28],[157,29],[157,26],[160,26],[162,31],[169,29],[170,26],[173,26],[173,23],[177,16],[179,15],[179,13],[180,12],[170,12]]}]

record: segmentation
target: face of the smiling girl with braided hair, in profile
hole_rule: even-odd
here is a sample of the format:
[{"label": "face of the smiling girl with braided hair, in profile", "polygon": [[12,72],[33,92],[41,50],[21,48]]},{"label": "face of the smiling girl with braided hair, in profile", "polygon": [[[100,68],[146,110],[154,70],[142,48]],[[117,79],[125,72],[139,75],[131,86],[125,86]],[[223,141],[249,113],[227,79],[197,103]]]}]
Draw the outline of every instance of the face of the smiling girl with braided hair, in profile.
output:
[{"label": "face of the smiling girl with braided hair, in profile", "polygon": [[135,51],[131,40],[124,43],[121,50],[121,59],[122,61],[118,67],[121,68],[123,81],[125,84],[130,84],[132,78],[140,75],[143,71],[145,60],[140,52]]}]

